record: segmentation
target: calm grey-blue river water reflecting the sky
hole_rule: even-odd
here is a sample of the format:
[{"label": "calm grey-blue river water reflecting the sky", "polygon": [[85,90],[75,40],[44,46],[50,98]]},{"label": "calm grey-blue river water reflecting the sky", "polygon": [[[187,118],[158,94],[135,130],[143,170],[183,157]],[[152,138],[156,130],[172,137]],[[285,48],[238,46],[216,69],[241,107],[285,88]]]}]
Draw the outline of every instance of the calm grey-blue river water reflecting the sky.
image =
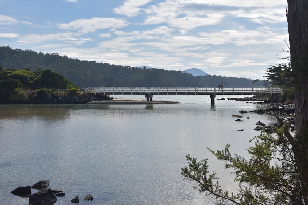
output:
[{"label": "calm grey-blue river water reflecting the sky", "polygon": [[[274,116],[248,112],[241,123],[231,115],[261,105],[215,100],[211,106],[209,96],[155,99],[182,103],[0,105],[1,204],[29,204],[10,191],[42,179],[64,190],[55,205],[71,204],[76,195],[79,204],[216,204],[182,180],[188,153],[209,158],[222,185],[236,191],[231,170],[206,148],[231,144],[232,152],[245,156],[249,139],[260,134],[255,123],[272,125]],[[93,201],[83,201],[88,194]]]}]

